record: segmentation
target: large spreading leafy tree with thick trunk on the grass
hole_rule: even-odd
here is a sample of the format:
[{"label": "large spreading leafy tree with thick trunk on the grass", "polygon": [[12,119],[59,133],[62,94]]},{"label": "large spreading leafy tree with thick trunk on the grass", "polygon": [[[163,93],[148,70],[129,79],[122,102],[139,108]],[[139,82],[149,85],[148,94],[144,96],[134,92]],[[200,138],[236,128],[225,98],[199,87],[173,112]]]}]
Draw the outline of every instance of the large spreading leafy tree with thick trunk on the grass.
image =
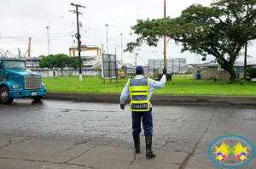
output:
[{"label": "large spreading leafy tree with thick trunk on the grass", "polygon": [[194,4],[177,18],[137,20],[137,25],[131,29],[138,38],[127,44],[125,52],[132,52],[143,42],[156,47],[166,35],[182,44],[182,52],[201,54],[202,60],[209,54],[214,56],[234,82],[234,63],[241,48],[256,38],[255,20],[256,0],[217,0],[209,7]]}]

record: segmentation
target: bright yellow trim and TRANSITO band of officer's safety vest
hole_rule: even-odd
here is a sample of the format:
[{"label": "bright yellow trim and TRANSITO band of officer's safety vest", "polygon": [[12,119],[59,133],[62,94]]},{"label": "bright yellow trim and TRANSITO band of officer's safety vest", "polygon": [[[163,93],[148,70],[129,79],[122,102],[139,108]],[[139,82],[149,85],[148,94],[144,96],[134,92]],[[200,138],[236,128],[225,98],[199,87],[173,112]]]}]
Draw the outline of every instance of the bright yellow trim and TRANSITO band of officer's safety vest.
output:
[{"label": "bright yellow trim and TRANSITO band of officer's safety vest", "polygon": [[[135,79],[143,79],[142,78],[135,78]],[[130,96],[131,96],[131,103],[130,109],[131,111],[148,111],[149,110],[149,100],[148,100],[148,93],[149,93],[149,78],[148,78],[148,85],[147,86],[131,86],[130,84],[131,78],[128,80]],[[133,96],[147,96],[146,100],[133,100]]]}]

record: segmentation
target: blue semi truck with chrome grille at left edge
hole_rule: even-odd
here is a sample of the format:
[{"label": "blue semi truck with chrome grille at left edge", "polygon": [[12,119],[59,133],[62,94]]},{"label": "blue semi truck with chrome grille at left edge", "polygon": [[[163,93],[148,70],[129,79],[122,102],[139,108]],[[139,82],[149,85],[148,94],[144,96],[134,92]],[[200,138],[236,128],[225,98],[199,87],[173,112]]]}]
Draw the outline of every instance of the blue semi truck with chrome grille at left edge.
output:
[{"label": "blue semi truck with chrome grille at left edge", "polygon": [[3,104],[11,104],[17,98],[39,101],[46,93],[41,76],[26,70],[26,60],[0,58],[0,101]]}]

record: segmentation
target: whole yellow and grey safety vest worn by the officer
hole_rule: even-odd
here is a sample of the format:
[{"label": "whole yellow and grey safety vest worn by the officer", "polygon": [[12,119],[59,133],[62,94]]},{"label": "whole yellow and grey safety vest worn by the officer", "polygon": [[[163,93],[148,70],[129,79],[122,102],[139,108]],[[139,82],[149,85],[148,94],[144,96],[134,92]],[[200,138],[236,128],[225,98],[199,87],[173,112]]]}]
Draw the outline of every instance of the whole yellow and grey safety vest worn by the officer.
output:
[{"label": "whole yellow and grey safety vest worn by the officer", "polygon": [[133,78],[128,81],[131,96],[131,111],[149,110],[149,78]]}]

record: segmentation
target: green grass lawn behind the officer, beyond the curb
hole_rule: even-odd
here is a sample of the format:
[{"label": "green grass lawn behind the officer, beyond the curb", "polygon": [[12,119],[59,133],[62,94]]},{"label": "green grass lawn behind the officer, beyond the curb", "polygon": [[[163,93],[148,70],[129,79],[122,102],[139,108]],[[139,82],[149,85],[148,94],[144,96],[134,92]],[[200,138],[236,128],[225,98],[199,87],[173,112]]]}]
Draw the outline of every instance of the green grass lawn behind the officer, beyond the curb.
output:
[{"label": "green grass lawn behind the officer, beyond the curb", "polygon": [[[155,90],[154,94],[165,95],[207,95],[207,96],[256,96],[256,82],[227,81],[195,81],[189,80],[192,76],[172,76],[172,82],[166,82],[166,86]],[[128,78],[115,80],[109,83],[106,80],[102,84],[99,76],[83,76],[83,82],[79,82],[79,76],[58,76],[42,78],[48,93],[116,93],[120,94],[125,87]]]}]

